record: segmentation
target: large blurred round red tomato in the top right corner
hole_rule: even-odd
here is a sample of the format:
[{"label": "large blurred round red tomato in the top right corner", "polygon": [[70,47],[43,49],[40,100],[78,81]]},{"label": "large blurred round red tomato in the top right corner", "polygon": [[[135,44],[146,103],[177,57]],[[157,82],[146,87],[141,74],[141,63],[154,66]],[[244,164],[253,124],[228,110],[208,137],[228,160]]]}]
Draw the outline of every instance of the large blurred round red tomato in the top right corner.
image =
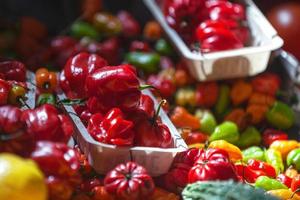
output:
[{"label": "large blurred round red tomato in the top right corner", "polygon": [[300,3],[279,4],[271,9],[267,16],[278,34],[283,38],[283,48],[300,59]]}]

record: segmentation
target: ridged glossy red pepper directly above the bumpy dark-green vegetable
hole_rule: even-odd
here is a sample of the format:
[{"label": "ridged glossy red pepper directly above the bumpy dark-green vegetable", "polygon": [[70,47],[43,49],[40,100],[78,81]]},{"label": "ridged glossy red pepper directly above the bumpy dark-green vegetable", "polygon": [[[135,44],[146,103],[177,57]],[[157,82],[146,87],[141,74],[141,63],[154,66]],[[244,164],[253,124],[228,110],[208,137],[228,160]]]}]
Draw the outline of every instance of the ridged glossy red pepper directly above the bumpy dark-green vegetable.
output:
[{"label": "ridged glossy red pepper directly above the bumpy dark-green vegetable", "polygon": [[188,181],[238,180],[234,165],[228,153],[222,149],[201,149],[194,166],[189,171]]}]

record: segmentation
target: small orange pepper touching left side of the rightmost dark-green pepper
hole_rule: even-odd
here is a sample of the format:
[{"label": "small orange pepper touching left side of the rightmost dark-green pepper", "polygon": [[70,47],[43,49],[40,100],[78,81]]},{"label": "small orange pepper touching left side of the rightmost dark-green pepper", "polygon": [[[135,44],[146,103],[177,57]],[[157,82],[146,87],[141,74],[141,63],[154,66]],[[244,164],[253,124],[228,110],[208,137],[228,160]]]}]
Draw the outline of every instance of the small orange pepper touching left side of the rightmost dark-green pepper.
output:
[{"label": "small orange pepper touching left side of the rightmost dark-green pepper", "polygon": [[268,111],[267,105],[250,104],[247,107],[246,113],[251,115],[251,124],[259,124],[265,119],[265,114]]}]

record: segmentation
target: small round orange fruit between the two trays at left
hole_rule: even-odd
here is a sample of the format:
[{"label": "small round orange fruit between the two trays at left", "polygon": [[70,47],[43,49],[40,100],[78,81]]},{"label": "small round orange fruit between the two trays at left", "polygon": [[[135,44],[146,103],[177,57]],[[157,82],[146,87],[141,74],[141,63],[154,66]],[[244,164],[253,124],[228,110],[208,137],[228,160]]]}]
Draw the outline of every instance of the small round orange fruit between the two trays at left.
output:
[{"label": "small round orange fruit between the two trays at left", "polygon": [[57,87],[55,72],[49,72],[46,68],[40,68],[35,73],[35,81],[41,92],[54,92]]}]

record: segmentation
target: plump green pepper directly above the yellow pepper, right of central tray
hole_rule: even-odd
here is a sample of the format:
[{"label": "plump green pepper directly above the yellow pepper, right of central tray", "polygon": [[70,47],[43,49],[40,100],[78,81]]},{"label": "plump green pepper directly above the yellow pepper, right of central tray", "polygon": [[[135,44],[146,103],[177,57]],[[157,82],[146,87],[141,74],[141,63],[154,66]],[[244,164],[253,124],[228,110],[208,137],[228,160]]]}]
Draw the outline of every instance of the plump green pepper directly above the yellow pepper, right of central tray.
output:
[{"label": "plump green pepper directly above the yellow pepper, right of central tray", "polygon": [[226,140],[230,143],[235,143],[239,139],[238,127],[235,123],[225,121],[217,126],[210,136],[209,140]]}]

